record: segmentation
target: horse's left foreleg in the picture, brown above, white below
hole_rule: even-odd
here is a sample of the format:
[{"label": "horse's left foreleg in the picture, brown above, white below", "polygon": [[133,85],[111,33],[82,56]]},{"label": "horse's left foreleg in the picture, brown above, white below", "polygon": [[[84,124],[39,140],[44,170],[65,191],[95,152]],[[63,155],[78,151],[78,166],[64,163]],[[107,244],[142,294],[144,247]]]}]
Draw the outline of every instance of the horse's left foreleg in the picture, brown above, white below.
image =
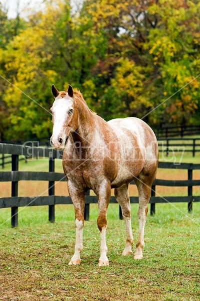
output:
[{"label": "horse's left foreleg in the picture, brown above, white below", "polygon": [[73,202],[73,207],[75,211],[75,252],[69,261],[69,265],[80,264],[80,253],[82,251],[82,233],[84,226],[84,193],[80,194],[72,185],[68,184],[68,190]]}]

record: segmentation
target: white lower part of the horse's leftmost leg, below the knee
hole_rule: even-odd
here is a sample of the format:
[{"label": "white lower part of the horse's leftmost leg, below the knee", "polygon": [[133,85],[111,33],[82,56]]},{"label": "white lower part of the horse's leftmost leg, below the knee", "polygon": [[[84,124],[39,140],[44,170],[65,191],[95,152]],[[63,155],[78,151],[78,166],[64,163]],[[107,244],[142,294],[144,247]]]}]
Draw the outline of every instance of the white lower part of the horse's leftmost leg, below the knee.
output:
[{"label": "white lower part of the horse's leftmost leg, below the knee", "polygon": [[76,227],[76,238],[75,238],[75,252],[69,261],[69,265],[80,264],[80,252],[82,251],[82,232],[83,232],[83,223],[78,219],[75,220]]}]

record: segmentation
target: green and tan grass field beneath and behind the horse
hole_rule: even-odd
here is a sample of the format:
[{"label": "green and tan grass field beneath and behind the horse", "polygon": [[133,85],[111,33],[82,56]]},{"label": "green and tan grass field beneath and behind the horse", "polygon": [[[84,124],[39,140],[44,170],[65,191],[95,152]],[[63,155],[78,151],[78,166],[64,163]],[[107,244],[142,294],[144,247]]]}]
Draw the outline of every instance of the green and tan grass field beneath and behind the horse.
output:
[{"label": "green and tan grass field beneath and behind the horse", "polygon": [[[178,158],[176,158],[178,160]],[[199,156],[183,156],[182,162],[199,163]],[[19,170],[47,171],[47,161],[20,162]],[[5,170],[10,170],[6,167]],[[61,172],[61,163],[56,162]],[[159,179],[186,179],[182,170],[159,170]],[[193,179],[199,179],[193,173]],[[19,182],[20,183],[20,182]],[[47,183],[21,182],[19,195],[38,195]],[[66,183],[55,186],[66,194]],[[158,190],[158,188],[157,188]],[[162,195],[186,194],[182,188]],[[132,189],[132,194],[136,190]],[[199,195],[199,187],[195,193]],[[47,195],[47,193],[45,193]],[[10,195],[10,183],[0,183],[0,196]],[[138,235],[137,204],[131,205],[134,243]],[[10,228],[10,209],[0,209],[0,301],[1,300],[199,300],[200,204],[188,214],[186,204],[157,204],[156,214],[147,216],[144,258],[122,257],[124,221],[118,205],[108,207],[107,247],[109,267],[99,268],[97,206],[90,205],[85,222],[80,266],[68,266],[75,243],[74,212],[71,205],[56,206],[56,222],[48,220],[47,207],[19,208],[19,226]]]}]

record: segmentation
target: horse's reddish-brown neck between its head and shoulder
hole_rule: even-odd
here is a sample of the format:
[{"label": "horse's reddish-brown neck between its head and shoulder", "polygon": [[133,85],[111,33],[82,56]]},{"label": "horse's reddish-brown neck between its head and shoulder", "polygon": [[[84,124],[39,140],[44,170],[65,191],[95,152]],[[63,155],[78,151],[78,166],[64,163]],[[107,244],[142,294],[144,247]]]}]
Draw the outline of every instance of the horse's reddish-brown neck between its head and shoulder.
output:
[{"label": "horse's reddish-brown neck between its head and shoulder", "polygon": [[88,146],[93,140],[95,134],[97,115],[88,108],[84,100],[78,99],[78,128],[72,133],[73,142],[80,142],[82,146]]}]

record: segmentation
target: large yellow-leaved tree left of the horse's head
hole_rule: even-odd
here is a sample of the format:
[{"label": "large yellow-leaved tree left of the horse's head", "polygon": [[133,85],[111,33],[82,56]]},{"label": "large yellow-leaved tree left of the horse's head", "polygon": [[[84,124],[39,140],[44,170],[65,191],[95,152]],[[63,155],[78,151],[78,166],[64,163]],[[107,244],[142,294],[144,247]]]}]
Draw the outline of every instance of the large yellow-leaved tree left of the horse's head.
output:
[{"label": "large yellow-leaved tree left of the horse's head", "polygon": [[9,109],[7,121],[10,126],[6,136],[10,139],[13,132],[20,138],[44,138],[50,134],[50,85],[60,81],[60,86],[63,86],[65,78],[62,76],[67,65],[62,56],[66,28],[64,26],[62,30],[60,19],[70,25],[70,8],[67,4],[60,6],[48,6],[45,14],[39,12],[34,18],[30,17],[27,28],[10,41],[3,53],[6,78],[13,84],[2,95]]}]

